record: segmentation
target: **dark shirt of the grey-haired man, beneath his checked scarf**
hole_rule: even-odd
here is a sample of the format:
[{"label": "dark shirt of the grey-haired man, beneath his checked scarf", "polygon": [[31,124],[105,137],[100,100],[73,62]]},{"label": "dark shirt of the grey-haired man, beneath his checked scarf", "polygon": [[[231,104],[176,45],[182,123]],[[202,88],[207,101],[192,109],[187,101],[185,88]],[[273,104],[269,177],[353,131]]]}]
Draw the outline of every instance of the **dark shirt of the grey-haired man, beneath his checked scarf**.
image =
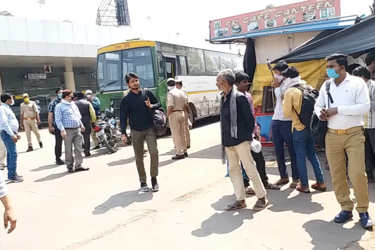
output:
[{"label": "dark shirt of the grey-haired man, beneath his checked scarf", "polygon": [[[232,91],[227,95],[227,100],[223,103],[221,122],[223,126],[223,144],[224,146],[236,146],[245,141],[252,141],[252,132],[254,130],[254,116],[251,113],[251,107],[248,99],[244,94],[237,91],[237,139],[230,135],[230,96]],[[224,97],[221,98],[224,100]],[[250,152],[249,152],[250,153]]]}]

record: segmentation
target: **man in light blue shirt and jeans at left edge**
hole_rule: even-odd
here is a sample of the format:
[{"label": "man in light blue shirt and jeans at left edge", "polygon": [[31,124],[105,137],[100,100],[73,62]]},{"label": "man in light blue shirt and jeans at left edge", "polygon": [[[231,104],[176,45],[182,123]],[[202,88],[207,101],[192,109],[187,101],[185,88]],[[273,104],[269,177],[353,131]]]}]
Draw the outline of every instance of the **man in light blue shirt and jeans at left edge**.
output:
[{"label": "man in light blue shirt and jeans at left edge", "polygon": [[6,161],[8,163],[8,180],[10,182],[23,181],[22,176],[17,174],[17,148],[16,143],[21,139],[18,133],[19,124],[16,115],[10,108],[14,105],[13,96],[9,93],[1,95],[0,106],[0,130],[1,139],[6,147]]}]

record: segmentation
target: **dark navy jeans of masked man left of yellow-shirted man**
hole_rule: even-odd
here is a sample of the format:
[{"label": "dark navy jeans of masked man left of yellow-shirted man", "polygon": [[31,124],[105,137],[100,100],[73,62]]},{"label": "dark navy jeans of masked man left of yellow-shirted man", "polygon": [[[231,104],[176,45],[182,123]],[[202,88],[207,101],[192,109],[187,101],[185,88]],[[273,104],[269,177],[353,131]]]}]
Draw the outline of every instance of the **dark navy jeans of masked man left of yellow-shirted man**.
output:
[{"label": "dark navy jeans of masked man left of yellow-shirted man", "polygon": [[277,158],[277,165],[279,167],[280,177],[285,179],[288,178],[288,170],[285,165],[284,156],[284,143],[287,144],[289,155],[291,156],[292,165],[292,178],[293,180],[299,179],[297,158],[294,152],[293,137],[292,137],[292,121],[272,121],[272,138],[273,145],[275,147],[275,153]]}]

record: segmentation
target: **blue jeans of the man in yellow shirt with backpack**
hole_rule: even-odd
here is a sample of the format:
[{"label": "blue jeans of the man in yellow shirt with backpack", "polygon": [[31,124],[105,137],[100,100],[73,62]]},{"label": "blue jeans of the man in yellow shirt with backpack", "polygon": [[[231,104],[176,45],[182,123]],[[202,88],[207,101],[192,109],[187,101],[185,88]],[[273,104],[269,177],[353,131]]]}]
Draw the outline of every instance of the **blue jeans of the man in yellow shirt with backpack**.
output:
[{"label": "blue jeans of the man in yellow shirt with backpack", "polygon": [[309,129],[305,128],[301,131],[297,131],[294,128],[293,143],[295,154],[297,156],[297,166],[302,186],[309,187],[309,181],[307,179],[306,156],[314,169],[316,182],[324,183],[323,171],[320,167],[319,159],[315,151],[315,145],[312,141]]}]

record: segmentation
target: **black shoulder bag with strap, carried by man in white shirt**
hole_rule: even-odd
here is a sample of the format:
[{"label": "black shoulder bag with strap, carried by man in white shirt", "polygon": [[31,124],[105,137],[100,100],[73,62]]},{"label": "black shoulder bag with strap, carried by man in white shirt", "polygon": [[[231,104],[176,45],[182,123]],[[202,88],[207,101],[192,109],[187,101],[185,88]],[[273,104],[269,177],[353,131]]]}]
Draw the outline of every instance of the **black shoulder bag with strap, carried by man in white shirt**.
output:
[{"label": "black shoulder bag with strap, carried by man in white shirt", "polygon": [[[330,85],[331,82],[328,81],[326,83],[326,92],[328,96],[328,108],[330,108],[330,103],[333,104],[333,99],[330,93]],[[313,113],[311,117],[310,123],[310,132],[312,136],[312,140],[314,141],[315,145],[320,147],[325,147],[326,145],[326,132],[327,132],[327,121],[321,121],[319,117]]]}]

